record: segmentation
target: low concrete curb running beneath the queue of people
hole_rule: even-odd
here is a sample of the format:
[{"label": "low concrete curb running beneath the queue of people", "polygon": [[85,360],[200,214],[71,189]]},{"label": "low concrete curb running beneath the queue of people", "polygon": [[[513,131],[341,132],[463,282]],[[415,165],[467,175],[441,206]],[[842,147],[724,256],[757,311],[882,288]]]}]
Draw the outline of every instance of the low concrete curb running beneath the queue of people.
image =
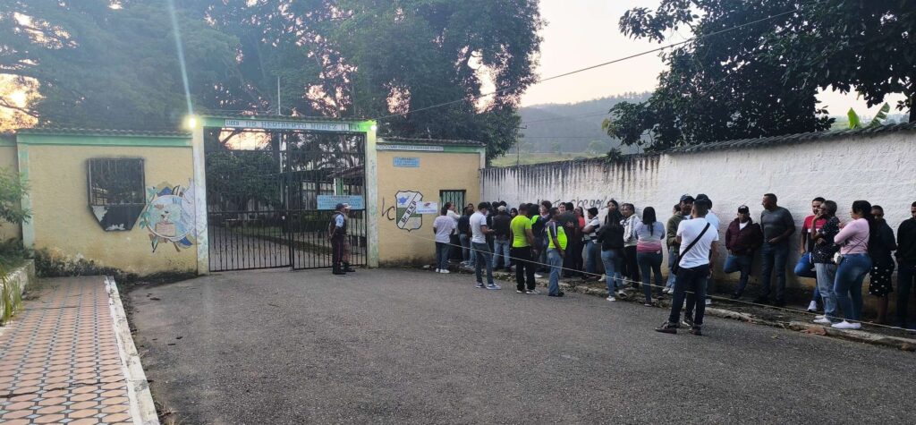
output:
[{"label": "low concrete curb running beneath the queue of people", "polygon": [[[469,274],[469,271],[464,267],[458,267],[459,273]],[[470,274],[473,274],[474,271],[471,270]],[[513,276],[507,272],[494,272],[494,278],[499,278],[500,280],[510,281]],[[535,279],[538,286],[547,287],[545,283],[545,278]],[[571,285],[567,282],[560,281],[560,289],[568,292],[575,292],[585,295],[592,295],[595,297],[606,297],[606,289],[596,289],[589,286],[580,286],[580,285]],[[623,302],[638,302],[639,294],[637,297],[630,297]],[[667,302],[661,302],[660,307],[667,309],[671,307],[671,300],[665,300]],[[911,338],[901,338],[898,336],[889,336],[881,335],[878,333],[866,332],[866,331],[850,331],[843,329],[834,329],[831,327],[823,327],[818,324],[807,323],[804,321],[768,321],[765,319],[760,319],[753,314],[748,314],[740,311],[731,311],[719,308],[706,308],[706,314],[722,319],[731,319],[735,321],[747,321],[748,323],[761,324],[765,326],[771,326],[774,328],[781,329],[790,329],[792,331],[799,331],[805,333],[812,333],[823,336],[830,336],[834,338],[840,338],[847,341],[854,341],[856,343],[870,343],[872,345],[880,345],[890,348],[896,348],[902,351],[916,352],[916,339]]]}]

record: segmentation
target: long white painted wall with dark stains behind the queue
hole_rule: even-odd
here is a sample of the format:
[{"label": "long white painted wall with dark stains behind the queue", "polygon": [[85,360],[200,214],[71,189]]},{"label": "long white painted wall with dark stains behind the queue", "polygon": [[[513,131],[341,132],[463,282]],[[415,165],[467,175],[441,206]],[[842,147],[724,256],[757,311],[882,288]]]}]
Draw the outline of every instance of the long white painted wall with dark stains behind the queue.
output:
[{"label": "long white painted wall with dark stains behind the queue", "polygon": [[[543,199],[594,204],[604,215],[605,202],[614,198],[634,203],[639,214],[644,207],[653,206],[661,221],[671,216],[671,206],[682,194],[705,193],[722,219],[722,238],[742,203],[747,203],[758,221],[763,209],[760,201],[767,192],[775,193],[780,206],[790,210],[798,229],[811,213],[811,200],[816,196],[837,202],[842,221],[848,220],[852,202],[864,199],[884,207],[896,233],[900,222],[910,217],[911,202],[916,201],[916,132],[661,154],[613,165],[589,159],[484,169],[481,185],[486,201],[503,200],[513,206]],[[792,237],[797,240],[798,236]],[[792,267],[797,259],[794,251]],[[721,269],[721,264],[717,267]],[[805,286],[813,283],[804,280]],[[794,277],[790,282],[790,286],[799,286]]]}]

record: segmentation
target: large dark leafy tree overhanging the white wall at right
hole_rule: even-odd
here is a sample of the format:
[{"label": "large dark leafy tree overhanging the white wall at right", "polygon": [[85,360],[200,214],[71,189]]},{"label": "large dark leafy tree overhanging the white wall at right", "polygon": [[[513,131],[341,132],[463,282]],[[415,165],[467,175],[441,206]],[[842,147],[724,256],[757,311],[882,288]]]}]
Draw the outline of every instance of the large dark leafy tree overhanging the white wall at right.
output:
[{"label": "large dark leafy tree overhanging the white wall at right", "polygon": [[906,93],[899,107],[911,107],[913,9],[890,0],[662,0],[654,11],[634,8],[620,19],[631,37],[662,42],[688,27],[701,38],[665,53],[668,69],[649,101],[616,105],[605,130],[637,145],[648,133],[654,149],[824,130],[831,119],[816,93],[827,87],[855,86],[869,104]]}]

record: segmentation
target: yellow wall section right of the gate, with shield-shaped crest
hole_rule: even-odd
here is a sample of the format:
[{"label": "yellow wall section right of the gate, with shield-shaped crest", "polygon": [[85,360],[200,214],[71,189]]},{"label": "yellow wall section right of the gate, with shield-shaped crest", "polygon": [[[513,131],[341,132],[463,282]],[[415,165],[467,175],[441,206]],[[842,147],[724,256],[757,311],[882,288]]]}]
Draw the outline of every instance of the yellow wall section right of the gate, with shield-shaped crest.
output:
[{"label": "yellow wall section right of the gate, with shield-shaped crest", "polygon": [[[395,193],[417,191],[423,201],[437,202],[441,190],[464,190],[465,204],[480,202],[480,154],[458,152],[378,151],[378,262],[380,266],[419,264],[435,257],[432,221],[423,214],[420,228],[398,228]],[[396,168],[395,157],[420,158],[419,168]],[[461,213],[461,208],[458,208]]]}]

